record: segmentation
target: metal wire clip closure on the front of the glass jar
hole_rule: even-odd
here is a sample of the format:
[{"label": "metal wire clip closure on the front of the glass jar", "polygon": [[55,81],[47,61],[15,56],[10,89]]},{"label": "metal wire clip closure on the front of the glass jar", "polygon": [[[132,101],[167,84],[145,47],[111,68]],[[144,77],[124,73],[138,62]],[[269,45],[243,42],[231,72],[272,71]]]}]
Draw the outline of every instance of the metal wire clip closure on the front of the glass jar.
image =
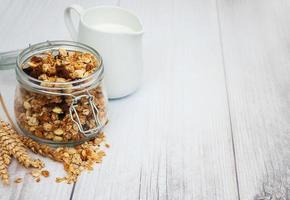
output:
[{"label": "metal wire clip closure on the front of the glass jar", "polygon": [[[75,96],[71,105],[70,105],[70,108],[69,108],[70,117],[71,117],[72,121],[78,126],[79,131],[85,137],[89,137],[89,136],[99,132],[103,127],[103,124],[101,123],[100,118],[99,118],[99,110],[94,102],[94,96],[91,95],[88,91],[87,91],[87,93],[88,94]],[[80,117],[79,117],[79,114],[78,114],[76,108],[78,107],[78,103],[82,98],[86,98],[90,104],[90,107],[91,107],[91,110],[93,113],[93,117],[94,117],[94,121],[96,124],[95,128],[85,130],[85,128],[81,124]],[[75,115],[75,117],[74,117],[74,115]]]}]

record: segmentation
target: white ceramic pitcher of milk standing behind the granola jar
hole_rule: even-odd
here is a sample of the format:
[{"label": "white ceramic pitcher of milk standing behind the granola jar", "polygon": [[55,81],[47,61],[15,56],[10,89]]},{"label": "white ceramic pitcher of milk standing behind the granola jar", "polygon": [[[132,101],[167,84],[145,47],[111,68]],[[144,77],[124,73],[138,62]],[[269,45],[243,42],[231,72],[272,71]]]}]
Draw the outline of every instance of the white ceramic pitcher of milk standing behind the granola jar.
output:
[{"label": "white ceramic pitcher of milk standing behind the granola jar", "polygon": [[[79,17],[76,29],[71,11]],[[103,57],[105,84],[110,99],[134,92],[142,79],[142,35],[139,18],[130,11],[113,6],[65,9],[65,24],[73,40],[95,48]]]}]

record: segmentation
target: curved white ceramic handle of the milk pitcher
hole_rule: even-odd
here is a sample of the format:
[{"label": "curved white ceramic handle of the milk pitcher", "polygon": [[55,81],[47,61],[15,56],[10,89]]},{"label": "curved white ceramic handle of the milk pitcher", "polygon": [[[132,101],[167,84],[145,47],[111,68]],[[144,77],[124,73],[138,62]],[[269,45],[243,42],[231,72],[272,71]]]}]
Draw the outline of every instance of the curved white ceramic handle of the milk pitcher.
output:
[{"label": "curved white ceramic handle of the milk pitcher", "polygon": [[81,17],[84,9],[79,5],[70,5],[64,10],[64,22],[70,33],[71,38],[76,41],[77,40],[77,29],[73,25],[71,11],[75,11],[79,17]]}]

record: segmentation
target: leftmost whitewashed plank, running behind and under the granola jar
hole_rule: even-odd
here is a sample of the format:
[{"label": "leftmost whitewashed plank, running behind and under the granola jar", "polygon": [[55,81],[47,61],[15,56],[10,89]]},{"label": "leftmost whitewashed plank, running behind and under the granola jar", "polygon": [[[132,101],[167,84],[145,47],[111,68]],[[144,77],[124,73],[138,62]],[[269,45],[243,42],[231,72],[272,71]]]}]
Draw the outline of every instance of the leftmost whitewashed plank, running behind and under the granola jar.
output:
[{"label": "leftmost whitewashed plank, running behind and under the granola jar", "polygon": [[[103,4],[103,1],[81,1],[84,7]],[[29,43],[46,40],[69,39],[63,22],[63,10],[66,6],[80,1],[1,1],[0,4],[0,51],[27,47]],[[106,1],[116,4],[116,1]],[[4,96],[9,111],[13,115],[13,99],[16,80],[13,70],[0,71],[0,92]],[[3,116],[3,112],[0,113]],[[43,158],[41,158],[43,159]],[[0,183],[0,199],[70,199],[73,185],[57,184],[55,178],[64,175],[61,164],[43,159],[51,177],[36,183],[25,170],[13,161],[9,167],[11,186]],[[21,184],[13,183],[15,178],[24,178]]]}]

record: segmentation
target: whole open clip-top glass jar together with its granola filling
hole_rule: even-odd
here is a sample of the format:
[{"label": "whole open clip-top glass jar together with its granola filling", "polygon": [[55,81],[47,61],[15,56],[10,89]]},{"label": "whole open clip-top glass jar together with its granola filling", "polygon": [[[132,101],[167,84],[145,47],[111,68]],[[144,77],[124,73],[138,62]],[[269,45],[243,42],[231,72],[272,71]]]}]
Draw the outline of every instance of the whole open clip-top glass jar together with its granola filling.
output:
[{"label": "whole open clip-top glass jar together with its granola filling", "polygon": [[14,111],[21,131],[51,145],[76,145],[107,123],[104,68],[97,51],[81,43],[48,41],[17,58]]}]

